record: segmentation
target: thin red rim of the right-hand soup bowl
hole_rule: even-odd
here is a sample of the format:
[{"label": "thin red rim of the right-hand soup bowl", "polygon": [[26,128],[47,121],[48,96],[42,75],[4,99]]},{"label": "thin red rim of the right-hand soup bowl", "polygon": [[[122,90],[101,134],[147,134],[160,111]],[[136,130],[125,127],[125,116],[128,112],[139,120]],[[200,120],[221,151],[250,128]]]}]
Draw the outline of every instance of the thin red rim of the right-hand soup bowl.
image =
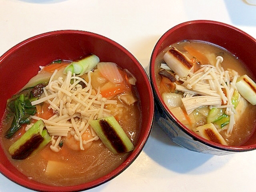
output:
[{"label": "thin red rim of the right-hand soup bowl", "polygon": [[[246,38],[249,38],[250,40],[254,41],[256,44],[256,39],[253,38],[252,36],[250,36],[249,34],[247,34],[246,32],[223,22],[218,22],[218,21],[214,21],[214,20],[191,20],[191,21],[187,21],[187,22],[183,22],[180,24],[177,24],[176,26],[170,28],[169,30],[167,30],[162,36],[160,36],[160,38],[158,39],[158,41],[156,42],[153,50],[152,50],[152,54],[150,57],[150,82],[151,82],[151,86],[153,88],[153,92],[154,92],[154,97],[157,100],[158,104],[160,105],[160,107],[164,110],[166,116],[168,116],[169,119],[174,120],[174,123],[176,124],[176,126],[178,126],[184,133],[188,134],[193,140],[199,141],[207,146],[210,146],[212,148],[216,148],[219,150],[224,150],[224,151],[229,151],[229,152],[245,152],[245,151],[250,151],[250,150],[254,150],[256,149],[256,144],[251,144],[251,145],[246,145],[246,146],[226,146],[226,145],[222,145],[222,144],[218,144],[215,142],[211,142],[209,140],[206,140],[200,136],[198,136],[196,133],[194,133],[192,130],[188,129],[186,126],[184,126],[169,110],[167,105],[164,103],[164,101],[162,100],[162,97],[160,96],[160,92],[158,91],[157,85],[156,85],[156,80],[154,78],[154,64],[155,64],[155,59],[157,56],[157,51],[159,50],[161,47],[162,42],[164,41],[164,39],[166,38],[166,36],[168,36],[172,31],[178,30],[179,28],[183,28],[184,26],[188,26],[188,25],[194,25],[194,24],[213,24],[213,25],[218,25],[218,26],[222,26],[223,28],[230,28],[231,30],[235,30],[238,33],[241,33],[243,36],[245,36]],[[160,49],[160,50],[163,50]],[[256,131],[256,130],[255,130]]]}]

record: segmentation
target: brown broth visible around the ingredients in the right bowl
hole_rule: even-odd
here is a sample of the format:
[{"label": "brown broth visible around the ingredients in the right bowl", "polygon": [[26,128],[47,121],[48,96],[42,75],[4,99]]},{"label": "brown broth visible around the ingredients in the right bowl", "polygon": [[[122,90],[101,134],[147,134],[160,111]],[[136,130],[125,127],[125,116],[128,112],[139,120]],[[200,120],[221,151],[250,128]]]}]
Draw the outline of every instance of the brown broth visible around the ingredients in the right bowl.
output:
[{"label": "brown broth visible around the ingredients in the right bowl", "polygon": [[[198,50],[199,52],[203,54],[209,54],[213,53],[216,56],[222,56],[224,58],[224,61],[221,63],[224,70],[230,68],[232,70],[235,70],[238,72],[240,76],[247,74],[255,80],[254,75],[250,70],[244,65],[239,58],[236,58],[234,55],[232,55],[227,50],[224,50],[223,48],[207,43],[207,42],[201,42],[201,41],[184,41],[184,42],[178,42],[176,44],[173,44],[162,51],[158,57],[156,58],[156,65],[155,65],[155,78],[158,85],[158,89],[160,89],[160,81],[161,76],[158,74],[160,71],[160,64],[165,63],[163,60],[164,54],[172,47],[176,47],[178,50],[186,54],[186,50],[184,49],[184,46],[187,44],[190,44],[193,48]],[[248,108],[246,111],[242,114],[242,117],[240,118],[240,121],[236,122],[234,125],[233,131],[231,135],[226,134],[226,130],[221,131],[220,134],[223,136],[224,140],[228,143],[228,145],[232,146],[240,146],[243,145],[250,136],[254,133],[255,127],[256,127],[256,107],[252,106],[251,104],[248,104]],[[202,120],[204,122],[205,120]]]}]

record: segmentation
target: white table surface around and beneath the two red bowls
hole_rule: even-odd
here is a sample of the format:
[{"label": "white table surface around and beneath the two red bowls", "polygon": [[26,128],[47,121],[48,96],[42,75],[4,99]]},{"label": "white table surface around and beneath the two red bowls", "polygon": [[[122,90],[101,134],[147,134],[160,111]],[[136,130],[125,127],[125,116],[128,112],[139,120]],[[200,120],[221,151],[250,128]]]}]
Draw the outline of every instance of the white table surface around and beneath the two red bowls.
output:
[{"label": "white table surface around and beneath the two red bowls", "polygon": [[[0,55],[31,36],[75,29],[118,42],[146,67],[164,32],[198,19],[231,24],[256,38],[256,6],[244,0],[0,0]],[[248,192],[256,191],[255,184],[256,151],[226,156],[192,152],[154,125],[138,158],[88,192]],[[32,190],[0,174],[0,192],[17,191]]]}]

